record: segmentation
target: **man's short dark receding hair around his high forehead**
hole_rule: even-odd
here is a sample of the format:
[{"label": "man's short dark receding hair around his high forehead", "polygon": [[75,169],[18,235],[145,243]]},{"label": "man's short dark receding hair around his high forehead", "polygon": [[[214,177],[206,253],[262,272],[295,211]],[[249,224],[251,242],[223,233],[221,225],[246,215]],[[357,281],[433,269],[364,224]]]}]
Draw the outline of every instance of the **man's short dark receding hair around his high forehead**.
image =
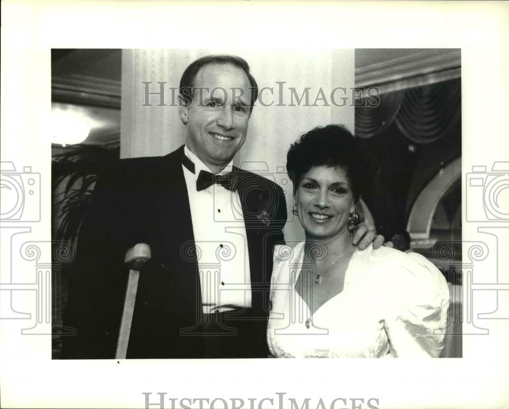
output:
[{"label": "man's short dark receding hair around his high forehead", "polygon": [[252,112],[254,102],[256,102],[258,98],[258,84],[249,72],[249,64],[247,64],[246,60],[237,56],[229,56],[226,54],[211,55],[199,58],[196,61],[193,61],[185,69],[182,77],[180,78],[179,85],[179,93],[185,103],[189,103],[192,100],[192,95],[194,94],[194,79],[196,78],[197,73],[202,67],[208,64],[231,64],[235,67],[239,67],[246,73],[247,78],[249,79],[249,88],[251,90],[250,110]]}]

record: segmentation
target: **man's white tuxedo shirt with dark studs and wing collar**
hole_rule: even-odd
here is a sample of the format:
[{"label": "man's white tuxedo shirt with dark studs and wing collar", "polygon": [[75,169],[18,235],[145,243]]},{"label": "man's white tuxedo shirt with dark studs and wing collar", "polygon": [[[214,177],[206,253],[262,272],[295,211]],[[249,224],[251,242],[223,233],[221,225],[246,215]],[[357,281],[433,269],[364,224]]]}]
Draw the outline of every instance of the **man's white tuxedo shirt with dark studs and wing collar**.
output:
[{"label": "man's white tuxedo shirt with dark studs and wing collar", "polygon": [[[251,307],[251,277],[244,216],[237,192],[219,184],[198,192],[196,179],[210,169],[188,148],[184,154],[194,163],[193,174],[184,165],[203,312],[224,312]],[[231,172],[232,162],[218,175]],[[178,198],[176,198],[178,200]]]}]

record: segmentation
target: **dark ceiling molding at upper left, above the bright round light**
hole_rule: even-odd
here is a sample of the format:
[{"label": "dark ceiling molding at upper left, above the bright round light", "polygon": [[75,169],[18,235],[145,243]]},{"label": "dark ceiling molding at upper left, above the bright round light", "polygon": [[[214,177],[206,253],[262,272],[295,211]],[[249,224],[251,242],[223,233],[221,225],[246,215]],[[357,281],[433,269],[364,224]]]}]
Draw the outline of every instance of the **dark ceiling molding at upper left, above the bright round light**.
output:
[{"label": "dark ceiling molding at upper left, above the bright round light", "polygon": [[120,109],[121,82],[80,74],[53,76],[51,100]]}]

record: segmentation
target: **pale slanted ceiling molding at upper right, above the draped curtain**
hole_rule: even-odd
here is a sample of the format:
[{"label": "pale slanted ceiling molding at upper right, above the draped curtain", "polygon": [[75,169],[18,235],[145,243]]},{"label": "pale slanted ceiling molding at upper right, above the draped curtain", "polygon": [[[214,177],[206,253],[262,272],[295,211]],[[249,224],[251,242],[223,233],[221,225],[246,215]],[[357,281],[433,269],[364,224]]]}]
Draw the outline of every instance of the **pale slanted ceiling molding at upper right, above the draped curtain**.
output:
[{"label": "pale slanted ceiling molding at upper right, above the draped curtain", "polygon": [[355,87],[378,87],[379,94],[461,77],[461,49],[429,49],[355,69]]}]

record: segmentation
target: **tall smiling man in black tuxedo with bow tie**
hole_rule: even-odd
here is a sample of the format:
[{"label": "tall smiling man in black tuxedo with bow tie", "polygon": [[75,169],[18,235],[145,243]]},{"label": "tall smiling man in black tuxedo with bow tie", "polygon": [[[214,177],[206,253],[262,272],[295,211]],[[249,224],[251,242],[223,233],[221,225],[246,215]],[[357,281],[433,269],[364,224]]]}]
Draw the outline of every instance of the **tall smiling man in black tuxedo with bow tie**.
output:
[{"label": "tall smiling man in black tuxedo with bow tie", "polygon": [[[208,56],[186,68],[179,114],[186,145],[120,160],[101,176],[79,235],[62,358],[114,358],[126,250],[148,243],[127,358],[262,358],[272,250],[284,242],[282,189],[233,167],[258,86],[248,64]],[[364,234],[365,233],[365,234]],[[354,243],[375,233],[361,226]],[[383,237],[375,240],[379,246]]]}]

